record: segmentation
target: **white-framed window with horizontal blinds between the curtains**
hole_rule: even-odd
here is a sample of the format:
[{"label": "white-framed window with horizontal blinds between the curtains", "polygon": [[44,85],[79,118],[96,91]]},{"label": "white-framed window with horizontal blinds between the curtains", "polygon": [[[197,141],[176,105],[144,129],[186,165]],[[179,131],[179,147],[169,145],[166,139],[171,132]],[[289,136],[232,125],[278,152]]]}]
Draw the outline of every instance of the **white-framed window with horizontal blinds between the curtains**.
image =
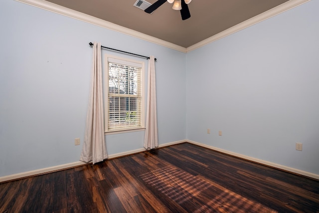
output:
[{"label": "white-framed window with horizontal blinds between the curtains", "polygon": [[105,131],[144,128],[144,62],[106,55]]}]

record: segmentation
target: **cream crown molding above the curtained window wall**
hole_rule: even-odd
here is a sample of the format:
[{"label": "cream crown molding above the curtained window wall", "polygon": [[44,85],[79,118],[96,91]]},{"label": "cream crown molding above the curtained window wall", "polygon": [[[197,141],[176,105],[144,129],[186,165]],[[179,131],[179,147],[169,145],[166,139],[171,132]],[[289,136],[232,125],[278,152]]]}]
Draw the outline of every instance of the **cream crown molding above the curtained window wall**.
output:
[{"label": "cream crown molding above the curtained window wall", "polygon": [[121,32],[123,34],[127,34],[127,35],[137,37],[137,38],[140,38],[140,39],[143,39],[143,40],[155,43],[155,44],[159,44],[161,46],[165,46],[165,47],[168,47],[170,49],[174,49],[174,50],[184,52],[184,53],[186,52],[185,47],[170,43],[168,41],[161,40],[159,38],[144,34],[142,32],[138,32],[138,31],[133,30],[133,29],[129,29],[129,28],[124,27],[124,26],[120,26],[118,24],[115,24],[115,23],[112,23],[109,21],[102,20],[102,19],[97,18],[97,17],[93,17],[93,16],[88,15],[88,14],[84,14],[82,12],[75,11],[73,9],[66,8],[64,6],[60,6],[58,4],[55,4],[55,3],[52,3],[49,1],[45,1],[45,0],[16,0],[16,1],[19,1],[19,2],[22,2],[25,4],[29,4],[31,6],[35,6],[35,7],[41,8],[41,9],[45,9],[45,10],[48,10],[51,12],[55,12],[55,13],[58,13],[58,14],[61,14],[61,15],[67,16],[67,17],[71,17],[71,18],[74,18],[77,20],[81,20],[81,21],[84,21],[87,23],[91,23],[91,24],[94,24],[94,25],[97,25],[100,27],[111,29],[113,31]]}]

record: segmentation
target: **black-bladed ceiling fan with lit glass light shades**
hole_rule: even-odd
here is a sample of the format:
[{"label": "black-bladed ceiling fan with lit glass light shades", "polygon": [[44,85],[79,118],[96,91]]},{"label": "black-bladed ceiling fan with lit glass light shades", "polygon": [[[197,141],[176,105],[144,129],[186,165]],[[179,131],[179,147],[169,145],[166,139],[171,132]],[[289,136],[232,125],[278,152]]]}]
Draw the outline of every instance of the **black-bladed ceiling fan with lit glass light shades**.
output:
[{"label": "black-bladed ceiling fan with lit glass light shades", "polygon": [[[188,9],[188,3],[191,0],[167,0],[169,3],[174,2],[173,9],[180,10],[181,19],[185,20],[190,17],[189,9]],[[160,7],[163,3],[165,3],[166,0],[158,0],[148,8],[146,8],[144,11],[147,13],[152,13],[154,10]]]}]

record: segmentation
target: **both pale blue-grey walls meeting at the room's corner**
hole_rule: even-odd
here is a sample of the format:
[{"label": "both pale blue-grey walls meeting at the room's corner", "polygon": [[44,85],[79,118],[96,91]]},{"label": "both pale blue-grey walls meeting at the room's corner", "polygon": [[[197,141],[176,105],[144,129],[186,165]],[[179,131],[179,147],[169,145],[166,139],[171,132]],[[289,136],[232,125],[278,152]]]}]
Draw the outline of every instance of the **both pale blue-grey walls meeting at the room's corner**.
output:
[{"label": "both pale blue-grey walls meeting at the room's corner", "polygon": [[[319,1],[310,1],[184,54],[0,1],[0,177],[78,161],[82,146],[74,138],[83,143],[90,41],[158,58],[160,144],[189,139],[319,174],[316,8]],[[108,153],[143,148],[143,138],[108,135]]]}]

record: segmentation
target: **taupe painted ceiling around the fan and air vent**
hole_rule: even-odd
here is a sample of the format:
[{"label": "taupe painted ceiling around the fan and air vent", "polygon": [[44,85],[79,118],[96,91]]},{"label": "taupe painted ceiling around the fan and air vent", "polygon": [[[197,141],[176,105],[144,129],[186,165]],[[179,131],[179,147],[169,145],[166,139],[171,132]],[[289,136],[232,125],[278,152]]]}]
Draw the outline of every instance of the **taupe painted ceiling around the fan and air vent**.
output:
[{"label": "taupe painted ceiling around the fan and air vent", "polygon": [[187,48],[288,0],[192,0],[186,20],[168,2],[149,14],[136,0],[47,1]]}]

